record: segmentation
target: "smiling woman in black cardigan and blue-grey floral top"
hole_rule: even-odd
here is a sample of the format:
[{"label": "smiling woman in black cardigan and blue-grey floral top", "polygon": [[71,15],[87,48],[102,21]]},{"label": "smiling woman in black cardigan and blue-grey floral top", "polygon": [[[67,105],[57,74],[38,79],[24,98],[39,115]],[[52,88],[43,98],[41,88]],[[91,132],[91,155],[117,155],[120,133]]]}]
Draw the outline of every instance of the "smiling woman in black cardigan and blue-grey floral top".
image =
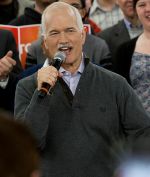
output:
[{"label": "smiling woman in black cardigan and blue-grey floral top", "polygon": [[150,115],[150,0],[134,0],[143,33],[124,44],[116,52],[115,71],[125,77]]}]

